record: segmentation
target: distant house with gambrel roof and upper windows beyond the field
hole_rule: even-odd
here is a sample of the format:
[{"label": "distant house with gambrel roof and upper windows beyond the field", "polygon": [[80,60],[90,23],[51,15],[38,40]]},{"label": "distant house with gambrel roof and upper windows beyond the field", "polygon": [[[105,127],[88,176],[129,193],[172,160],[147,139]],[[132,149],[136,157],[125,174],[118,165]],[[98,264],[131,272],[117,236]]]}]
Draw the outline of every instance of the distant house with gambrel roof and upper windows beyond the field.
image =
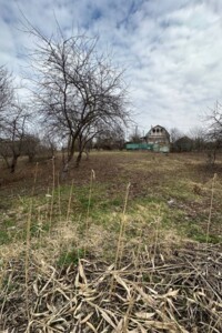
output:
[{"label": "distant house with gambrel roof and upper windows beyond the field", "polygon": [[169,152],[170,151],[170,134],[161,125],[151,127],[150,131],[143,138],[148,144],[153,145],[153,151]]}]

